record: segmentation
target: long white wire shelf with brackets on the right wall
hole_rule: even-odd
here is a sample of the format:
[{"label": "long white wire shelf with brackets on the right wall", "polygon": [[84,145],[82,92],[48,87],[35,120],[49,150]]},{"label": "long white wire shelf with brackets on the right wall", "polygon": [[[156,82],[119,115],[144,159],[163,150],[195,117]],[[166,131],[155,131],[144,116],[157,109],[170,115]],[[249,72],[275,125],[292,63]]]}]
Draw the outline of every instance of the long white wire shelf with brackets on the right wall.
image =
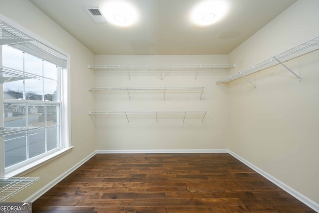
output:
[{"label": "long white wire shelf with brackets on the right wall", "polygon": [[[297,57],[300,57],[302,55],[308,54],[310,52],[316,51],[318,49],[319,49],[319,36],[315,37],[307,42],[304,42],[298,46],[295,46],[295,47],[293,47],[285,52],[282,52],[278,55],[275,55],[267,60],[264,60],[260,63],[257,63],[251,67],[248,67],[240,72],[237,72],[233,75],[230,75],[228,78],[221,79],[221,80],[217,81],[216,83],[230,82],[230,81],[236,80],[236,79],[241,78],[241,77],[244,77],[246,80],[248,80],[245,76],[247,76],[249,74],[253,74],[253,73],[258,72],[258,71],[261,71],[263,69],[267,69],[269,67],[272,67],[272,66],[275,66],[278,64],[282,64],[285,68],[287,68],[290,72],[292,72],[301,81],[301,78],[296,73],[294,73],[291,69],[289,69],[283,62],[292,60],[294,58],[297,58]],[[250,81],[249,81],[249,83],[252,84],[252,82],[250,82]]]}]

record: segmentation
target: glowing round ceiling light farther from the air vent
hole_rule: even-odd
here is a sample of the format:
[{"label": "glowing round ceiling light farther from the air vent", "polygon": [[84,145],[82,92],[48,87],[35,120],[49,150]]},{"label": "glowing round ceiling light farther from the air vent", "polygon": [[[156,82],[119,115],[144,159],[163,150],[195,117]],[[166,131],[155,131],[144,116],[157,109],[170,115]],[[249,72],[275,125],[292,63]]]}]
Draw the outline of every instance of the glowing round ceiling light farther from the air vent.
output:
[{"label": "glowing round ceiling light farther from the air vent", "polygon": [[197,4],[190,19],[197,25],[209,25],[222,19],[228,11],[228,5],[222,0],[208,0]]}]

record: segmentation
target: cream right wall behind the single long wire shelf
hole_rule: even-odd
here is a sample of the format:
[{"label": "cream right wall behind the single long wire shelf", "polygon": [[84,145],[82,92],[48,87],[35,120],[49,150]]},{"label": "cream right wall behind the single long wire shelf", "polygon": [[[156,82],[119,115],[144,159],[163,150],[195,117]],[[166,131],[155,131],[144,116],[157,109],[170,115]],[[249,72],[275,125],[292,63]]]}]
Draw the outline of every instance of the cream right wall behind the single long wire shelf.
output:
[{"label": "cream right wall behind the single long wire shelf", "polygon": [[[240,71],[319,36],[319,1],[299,0],[229,54]],[[230,150],[319,203],[319,52],[229,84]]]}]

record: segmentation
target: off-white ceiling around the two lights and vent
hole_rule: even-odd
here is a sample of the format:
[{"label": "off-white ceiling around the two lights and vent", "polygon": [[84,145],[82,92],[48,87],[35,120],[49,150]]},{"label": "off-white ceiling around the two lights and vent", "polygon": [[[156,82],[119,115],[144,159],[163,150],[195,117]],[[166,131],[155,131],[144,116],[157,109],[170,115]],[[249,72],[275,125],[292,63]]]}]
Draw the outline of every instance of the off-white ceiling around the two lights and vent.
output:
[{"label": "off-white ceiling around the two lights and vent", "polygon": [[126,28],[95,23],[84,8],[109,0],[29,1],[95,54],[193,55],[228,54],[297,0],[225,0],[228,15],[206,27],[189,21],[202,0],[130,0],[140,19]]}]

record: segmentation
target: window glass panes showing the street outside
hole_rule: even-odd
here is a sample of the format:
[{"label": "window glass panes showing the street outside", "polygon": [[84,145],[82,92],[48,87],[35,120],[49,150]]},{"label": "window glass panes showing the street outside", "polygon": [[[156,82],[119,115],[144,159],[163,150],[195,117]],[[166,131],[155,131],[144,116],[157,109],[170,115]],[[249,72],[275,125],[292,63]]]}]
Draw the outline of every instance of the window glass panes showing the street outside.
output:
[{"label": "window glass panes showing the street outside", "polygon": [[[61,103],[59,101],[60,72],[63,69],[9,46],[2,49],[2,56],[4,55],[6,56],[3,57],[3,65],[6,67],[38,76],[38,79],[3,84],[4,126],[40,127],[28,133],[4,137],[4,167],[7,168],[61,146]],[[10,58],[14,58],[14,63],[10,62]],[[15,66],[15,64],[21,65]],[[23,98],[32,102],[8,102],[10,99]],[[55,103],[48,103],[50,101]]]}]

